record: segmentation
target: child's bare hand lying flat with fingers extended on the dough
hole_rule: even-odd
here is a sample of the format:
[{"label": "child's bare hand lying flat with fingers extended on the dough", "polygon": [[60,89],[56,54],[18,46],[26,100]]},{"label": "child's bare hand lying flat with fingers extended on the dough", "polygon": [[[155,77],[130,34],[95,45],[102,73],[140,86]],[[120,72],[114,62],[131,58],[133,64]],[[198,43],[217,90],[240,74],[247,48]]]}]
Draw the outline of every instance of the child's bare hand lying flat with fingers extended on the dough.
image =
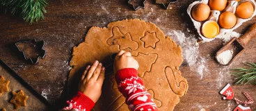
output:
[{"label": "child's bare hand lying flat with fingers extended on the dough", "polygon": [[96,103],[99,96],[102,94],[104,74],[105,68],[102,67],[102,63],[99,63],[97,60],[92,66],[88,65],[86,71],[84,71],[81,76],[79,92],[82,92]]}]

